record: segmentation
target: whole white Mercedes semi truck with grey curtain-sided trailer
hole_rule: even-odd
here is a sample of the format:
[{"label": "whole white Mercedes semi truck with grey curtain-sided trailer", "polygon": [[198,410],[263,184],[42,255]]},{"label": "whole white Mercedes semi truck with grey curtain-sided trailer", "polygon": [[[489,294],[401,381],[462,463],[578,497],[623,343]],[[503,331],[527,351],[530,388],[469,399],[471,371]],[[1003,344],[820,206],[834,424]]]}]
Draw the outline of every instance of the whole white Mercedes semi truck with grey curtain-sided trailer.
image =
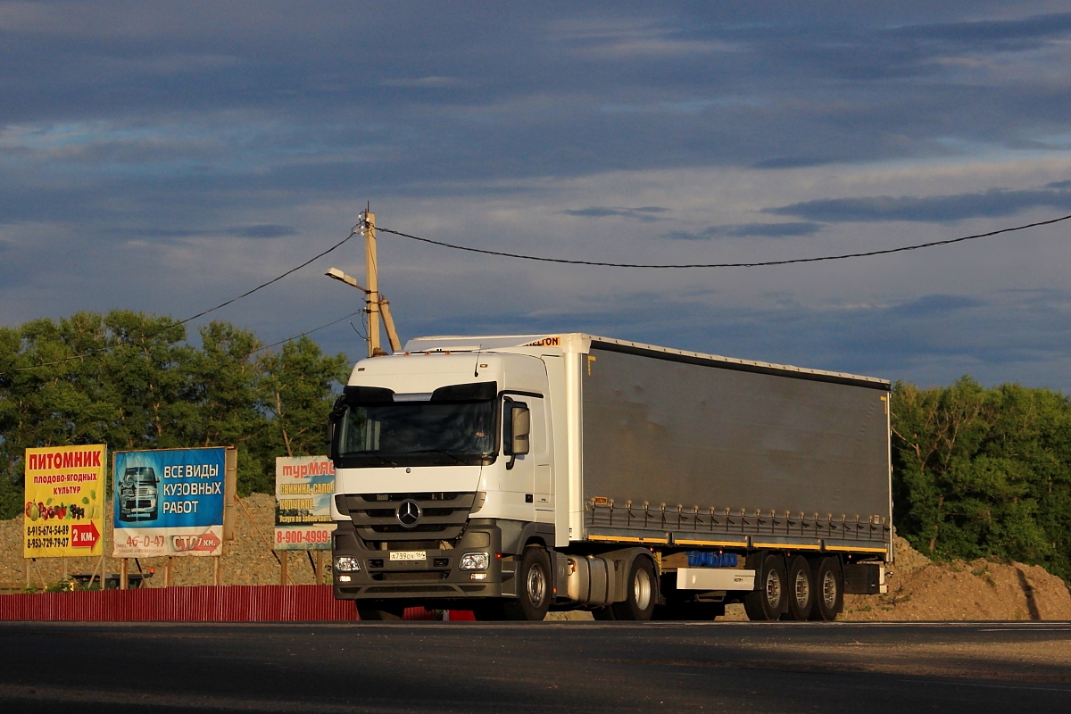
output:
[{"label": "whole white Mercedes semi truck with grey curtain-sided trailer", "polygon": [[336,598],[833,620],[892,560],[889,382],[570,333],[421,337],[330,419]]}]

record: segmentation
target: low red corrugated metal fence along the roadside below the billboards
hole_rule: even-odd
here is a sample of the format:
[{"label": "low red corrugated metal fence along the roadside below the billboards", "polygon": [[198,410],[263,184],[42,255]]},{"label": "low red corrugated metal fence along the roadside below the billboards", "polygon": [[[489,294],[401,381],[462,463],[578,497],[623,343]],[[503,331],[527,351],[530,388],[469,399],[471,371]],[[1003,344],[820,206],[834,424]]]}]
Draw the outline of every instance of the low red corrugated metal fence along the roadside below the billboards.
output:
[{"label": "low red corrugated metal fence along the roadside below the billboards", "polygon": [[[0,620],[80,622],[346,622],[359,620],[331,586],[200,586],[0,595]],[[432,620],[411,607],[405,620]],[[451,612],[451,620],[470,613]]]}]

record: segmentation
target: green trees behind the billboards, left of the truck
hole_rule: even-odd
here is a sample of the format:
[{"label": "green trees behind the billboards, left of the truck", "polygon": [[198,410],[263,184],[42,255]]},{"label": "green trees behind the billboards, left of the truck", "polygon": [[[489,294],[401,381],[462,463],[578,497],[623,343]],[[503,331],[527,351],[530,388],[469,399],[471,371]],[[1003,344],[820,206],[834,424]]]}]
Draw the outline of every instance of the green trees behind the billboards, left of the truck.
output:
[{"label": "green trees behind the billboards, left of the truck", "polygon": [[0,518],[21,511],[27,447],[238,446],[243,495],[274,491],[276,456],[323,453],[345,354],[307,337],[266,354],[226,322],[199,333],[198,348],[171,318],[129,310],[0,328]]}]

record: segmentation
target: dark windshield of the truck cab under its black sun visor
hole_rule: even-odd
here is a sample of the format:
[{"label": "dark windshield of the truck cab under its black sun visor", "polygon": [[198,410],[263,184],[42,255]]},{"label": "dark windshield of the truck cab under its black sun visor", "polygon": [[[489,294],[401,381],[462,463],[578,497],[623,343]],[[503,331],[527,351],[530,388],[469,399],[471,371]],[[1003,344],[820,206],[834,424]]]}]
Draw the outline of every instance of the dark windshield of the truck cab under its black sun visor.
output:
[{"label": "dark windshield of the truck cab under its black sun visor", "polygon": [[[347,390],[332,458],[340,468],[479,466],[496,456],[495,390],[444,388],[421,400]],[[464,388],[469,388],[465,390]],[[386,390],[383,390],[386,392]],[[492,398],[463,399],[463,396]],[[386,398],[391,398],[387,401]],[[398,400],[393,400],[397,398]]]}]

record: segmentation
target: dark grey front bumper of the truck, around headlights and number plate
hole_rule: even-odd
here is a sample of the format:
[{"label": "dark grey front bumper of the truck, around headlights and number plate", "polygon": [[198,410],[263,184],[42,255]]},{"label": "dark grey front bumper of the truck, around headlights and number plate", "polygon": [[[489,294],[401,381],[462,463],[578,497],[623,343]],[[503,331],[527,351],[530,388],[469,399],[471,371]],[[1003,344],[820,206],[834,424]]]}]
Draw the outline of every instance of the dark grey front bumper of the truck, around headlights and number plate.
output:
[{"label": "dark grey front bumper of the truck, around headlights and number plate", "polygon": [[[502,533],[494,521],[472,521],[453,548],[426,548],[407,541],[387,542],[389,550],[373,549],[352,523],[338,523],[333,540],[334,558],[350,556],[361,569],[343,573],[332,568],[335,599],[450,601],[516,596],[516,559],[501,556]],[[423,560],[392,561],[399,550],[423,550]],[[487,552],[486,571],[458,569],[467,552]],[[476,575],[482,578],[473,578]],[[348,578],[344,580],[343,578]]]}]

